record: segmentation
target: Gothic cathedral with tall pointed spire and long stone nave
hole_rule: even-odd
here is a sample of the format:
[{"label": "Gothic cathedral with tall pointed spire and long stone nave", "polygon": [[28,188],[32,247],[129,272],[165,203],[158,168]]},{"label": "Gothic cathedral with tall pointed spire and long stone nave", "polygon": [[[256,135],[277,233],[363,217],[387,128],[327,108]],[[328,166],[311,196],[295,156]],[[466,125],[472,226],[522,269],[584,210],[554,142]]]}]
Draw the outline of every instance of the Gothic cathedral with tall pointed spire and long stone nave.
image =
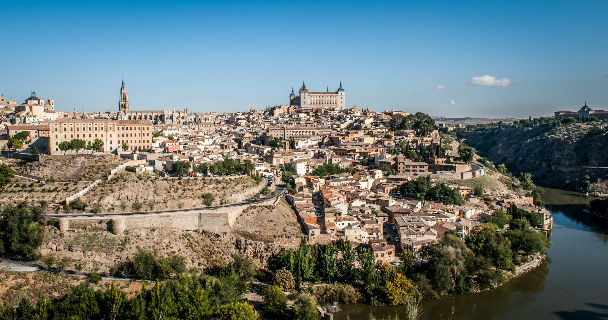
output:
[{"label": "Gothic cathedral with tall pointed spire and long stone nave", "polygon": [[129,100],[126,94],[125,80],[120,87],[117,120],[150,120],[152,124],[195,124],[194,114],[184,111],[171,110],[129,110]]}]

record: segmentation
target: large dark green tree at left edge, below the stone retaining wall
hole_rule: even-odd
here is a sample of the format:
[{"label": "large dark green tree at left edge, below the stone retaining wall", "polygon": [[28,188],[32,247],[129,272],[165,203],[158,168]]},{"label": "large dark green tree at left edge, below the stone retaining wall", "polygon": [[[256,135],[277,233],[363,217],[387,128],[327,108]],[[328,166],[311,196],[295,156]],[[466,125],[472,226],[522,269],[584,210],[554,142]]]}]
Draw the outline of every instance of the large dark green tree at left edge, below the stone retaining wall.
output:
[{"label": "large dark green tree at left edge, below the stone retaining wall", "polygon": [[44,239],[44,228],[34,221],[26,209],[4,209],[0,215],[0,249],[9,253],[29,257],[40,256],[36,252]]}]

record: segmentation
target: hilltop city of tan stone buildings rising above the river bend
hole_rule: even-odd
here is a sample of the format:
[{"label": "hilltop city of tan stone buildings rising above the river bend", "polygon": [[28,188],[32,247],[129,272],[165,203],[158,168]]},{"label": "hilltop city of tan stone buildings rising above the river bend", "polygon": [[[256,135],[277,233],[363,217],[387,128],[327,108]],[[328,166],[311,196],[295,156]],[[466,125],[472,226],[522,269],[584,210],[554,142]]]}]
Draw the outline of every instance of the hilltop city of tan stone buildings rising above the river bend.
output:
[{"label": "hilltop city of tan stone buildings rising above the river bend", "polygon": [[[532,128],[599,134],[608,117],[585,104],[551,117],[436,122],[348,107],[336,87],[302,83],[286,104],[223,114],[133,110],[124,80],[117,110],[103,113],[58,111],[35,91],[21,104],[2,96],[0,205],[32,223],[22,234],[30,244],[5,251],[47,271],[84,266],[89,277],[232,274],[319,302],[336,301],[314,288],[322,279],[350,294],[340,302],[369,304],[486,290],[540,265],[553,230],[544,190],[488,141]],[[502,163],[480,155],[492,152]],[[230,269],[243,264],[247,276]],[[271,315],[255,292],[233,298]],[[331,310],[318,311],[331,319]]]}]

